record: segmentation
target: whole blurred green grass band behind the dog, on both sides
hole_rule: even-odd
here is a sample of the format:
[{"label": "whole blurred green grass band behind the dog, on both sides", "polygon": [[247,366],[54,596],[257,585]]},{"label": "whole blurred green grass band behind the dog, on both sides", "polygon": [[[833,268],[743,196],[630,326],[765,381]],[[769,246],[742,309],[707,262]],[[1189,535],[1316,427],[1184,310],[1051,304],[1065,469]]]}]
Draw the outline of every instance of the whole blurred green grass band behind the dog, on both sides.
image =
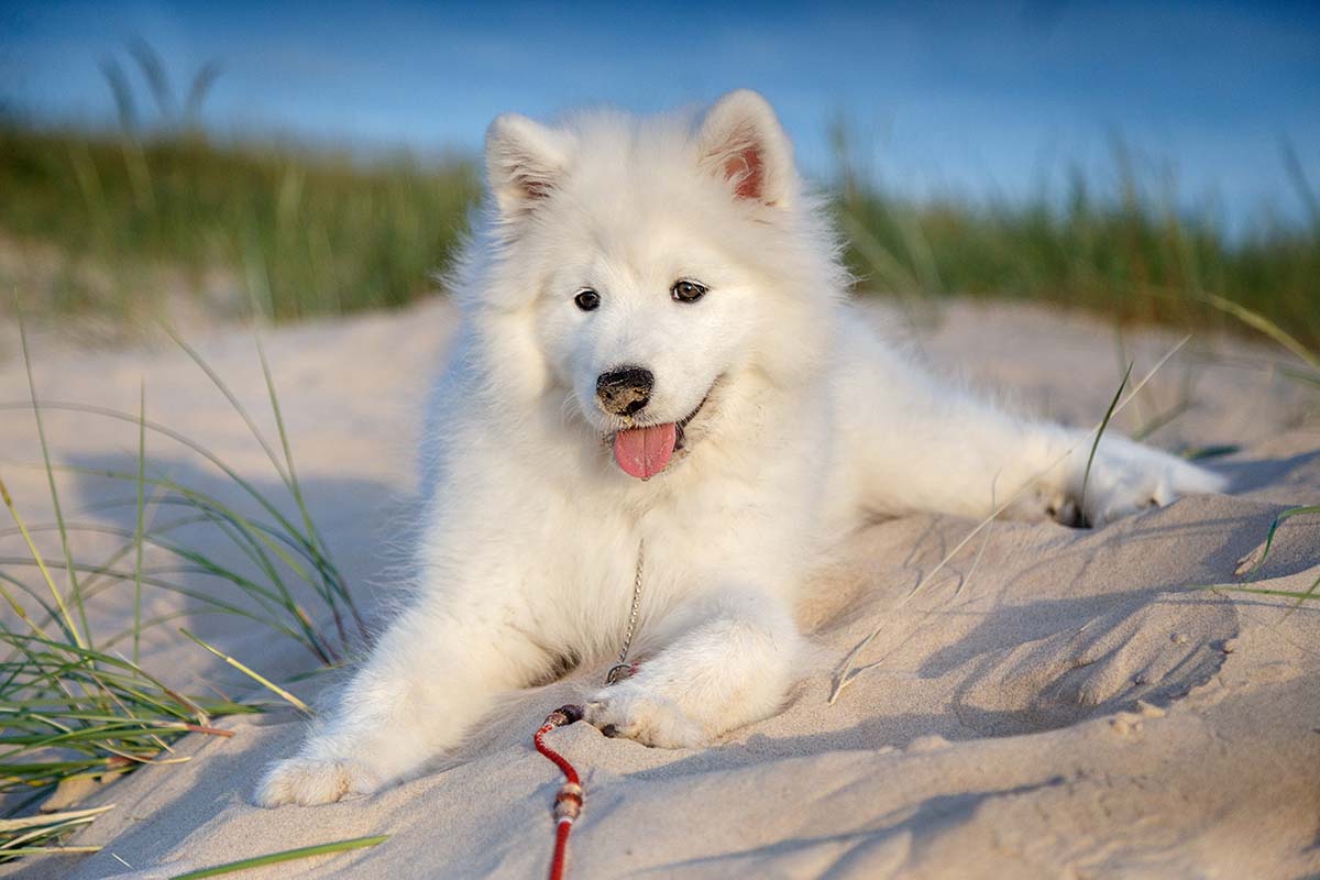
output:
[{"label": "whole blurred green grass band behind the dog, on both sides", "polygon": [[[1270,335],[1245,318],[1259,315],[1287,329],[1294,354],[1320,347],[1313,216],[1230,232],[1209,207],[1176,204],[1117,149],[1113,174],[1074,172],[1020,199],[913,201],[851,169],[841,149],[825,189],[862,292],[1052,302]],[[1304,177],[1294,179],[1315,203]],[[453,154],[363,157],[195,129],[11,120],[0,124],[0,281],[26,273],[15,280],[33,310],[127,322],[169,298],[222,314],[256,301],[285,321],[432,294],[469,226],[479,173]]]}]

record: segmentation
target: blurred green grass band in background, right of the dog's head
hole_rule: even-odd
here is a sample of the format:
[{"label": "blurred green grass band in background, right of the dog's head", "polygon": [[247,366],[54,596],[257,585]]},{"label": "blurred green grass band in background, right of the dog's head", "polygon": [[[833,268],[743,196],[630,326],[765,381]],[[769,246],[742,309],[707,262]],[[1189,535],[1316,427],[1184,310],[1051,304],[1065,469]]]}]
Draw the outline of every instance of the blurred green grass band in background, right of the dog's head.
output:
[{"label": "blurred green grass band in background, right of the dog's head", "polygon": [[[1024,199],[911,201],[861,182],[838,146],[836,212],[862,289],[1080,307],[1123,322],[1261,332],[1320,372],[1320,226],[1257,218],[1229,232],[1185,210],[1122,150],[1113,179],[1073,170]],[[1279,334],[1279,327],[1288,327]]]}]

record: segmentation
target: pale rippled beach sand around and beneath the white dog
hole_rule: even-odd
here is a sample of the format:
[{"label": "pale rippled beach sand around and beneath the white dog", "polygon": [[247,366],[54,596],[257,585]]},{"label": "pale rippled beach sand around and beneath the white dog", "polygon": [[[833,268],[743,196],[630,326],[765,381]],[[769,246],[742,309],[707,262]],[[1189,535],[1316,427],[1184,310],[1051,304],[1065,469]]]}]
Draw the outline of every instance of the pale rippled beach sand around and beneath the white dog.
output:
[{"label": "pale rippled beach sand around and beneath the white dog", "polygon": [[[903,331],[899,310],[866,319]],[[453,330],[442,302],[268,335],[298,471],[314,515],[367,610],[388,606],[409,509],[417,401]],[[1119,336],[1094,318],[954,302],[913,329],[940,371],[1005,389],[1019,405],[1077,425],[1098,421],[1126,358],[1135,375],[1176,342]],[[41,393],[136,409],[203,439],[263,488],[260,450],[223,398],[164,346],[79,352],[40,334]],[[193,339],[269,424],[249,336]],[[26,394],[7,334],[0,400]],[[1213,460],[1226,496],[1188,497],[1088,532],[997,522],[906,599],[975,525],[912,516],[859,530],[846,561],[817,578],[804,621],[821,665],[783,714],[705,749],[659,751],[578,724],[556,745],[583,772],[587,806],[572,843],[574,877],[1296,877],[1320,872],[1320,607],[1195,591],[1236,579],[1272,517],[1320,499],[1320,398],[1269,369],[1279,355],[1222,338],[1188,344],[1117,417],[1127,431],[1180,401],[1151,435],[1183,446],[1236,445]],[[88,467],[132,462],[132,427],[49,414],[58,456]],[[165,441],[170,474],[219,487]],[[0,474],[30,520],[46,517],[30,418],[0,413]],[[65,504],[123,496],[71,476]],[[131,524],[131,511],[81,521]],[[49,537],[49,536],[46,536]],[[205,534],[198,541],[209,540]],[[214,540],[214,538],[210,538]],[[79,545],[95,555],[98,544]],[[4,538],[0,551],[18,548]],[[1280,529],[1257,586],[1304,590],[1320,577],[1320,517]],[[214,588],[214,587],[213,587]],[[98,628],[125,619],[127,592],[94,607]],[[152,595],[153,612],[177,603]],[[296,645],[227,619],[186,624],[277,678],[305,672]],[[828,705],[838,661],[883,627],[873,664]],[[164,627],[144,665],[194,693],[249,682]],[[191,760],[144,768],[87,798],[115,803],[74,839],[86,858],[8,865],[25,877],[166,877],[238,858],[367,834],[384,844],[243,876],[541,876],[549,859],[554,768],[531,732],[602,670],[523,695],[451,765],[314,809],[249,802],[260,768],[290,753],[289,711],[219,722],[231,739],[190,736]],[[334,676],[296,690],[325,699]]]}]

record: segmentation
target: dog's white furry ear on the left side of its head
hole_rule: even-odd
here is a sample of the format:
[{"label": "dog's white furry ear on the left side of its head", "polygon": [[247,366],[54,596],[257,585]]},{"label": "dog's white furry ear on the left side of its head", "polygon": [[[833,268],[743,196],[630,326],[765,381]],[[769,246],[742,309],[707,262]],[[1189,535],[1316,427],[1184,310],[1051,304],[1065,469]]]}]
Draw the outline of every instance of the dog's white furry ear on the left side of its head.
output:
[{"label": "dog's white furry ear on the left side of its head", "polygon": [[568,168],[570,140],[519,113],[504,113],[486,132],[486,177],[506,220],[546,198]]}]

